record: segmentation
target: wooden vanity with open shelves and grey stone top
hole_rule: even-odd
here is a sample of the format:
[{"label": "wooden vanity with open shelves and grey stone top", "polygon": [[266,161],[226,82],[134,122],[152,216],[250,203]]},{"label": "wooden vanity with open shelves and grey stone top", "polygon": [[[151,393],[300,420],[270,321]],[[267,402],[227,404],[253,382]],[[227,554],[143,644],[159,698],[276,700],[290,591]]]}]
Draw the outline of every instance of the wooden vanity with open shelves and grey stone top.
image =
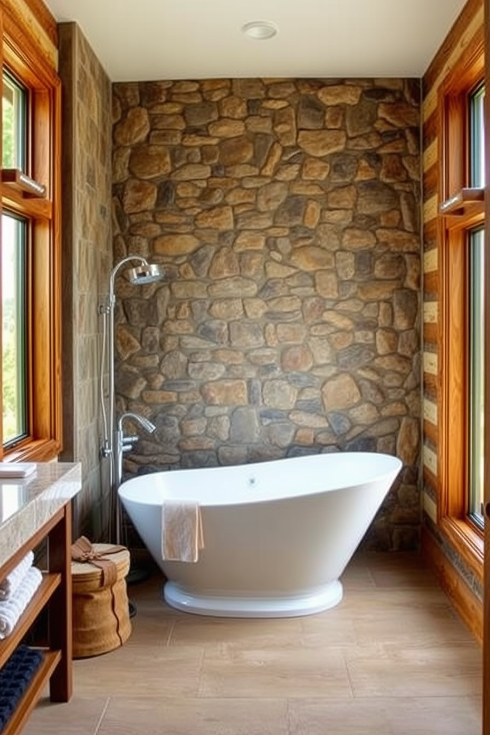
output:
[{"label": "wooden vanity with open shelves and grey stone top", "polygon": [[71,698],[71,500],[82,487],[79,464],[39,464],[35,476],[0,480],[0,580],[47,539],[47,569],[12,634],[0,640],[0,669],[43,609],[48,645],[43,661],[1,735],[21,731],[49,684],[54,702]]}]

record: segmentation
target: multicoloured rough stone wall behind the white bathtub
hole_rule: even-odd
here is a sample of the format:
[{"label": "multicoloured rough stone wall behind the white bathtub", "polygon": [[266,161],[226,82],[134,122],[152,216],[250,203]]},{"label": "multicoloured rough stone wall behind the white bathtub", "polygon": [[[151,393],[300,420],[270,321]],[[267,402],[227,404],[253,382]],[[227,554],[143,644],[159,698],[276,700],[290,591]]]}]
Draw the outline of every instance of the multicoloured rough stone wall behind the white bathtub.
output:
[{"label": "multicoloured rough stone wall behind the white bathtub", "polygon": [[119,409],[156,423],[126,471],[345,450],[405,467],[373,526],[417,544],[419,84],[114,86]]}]

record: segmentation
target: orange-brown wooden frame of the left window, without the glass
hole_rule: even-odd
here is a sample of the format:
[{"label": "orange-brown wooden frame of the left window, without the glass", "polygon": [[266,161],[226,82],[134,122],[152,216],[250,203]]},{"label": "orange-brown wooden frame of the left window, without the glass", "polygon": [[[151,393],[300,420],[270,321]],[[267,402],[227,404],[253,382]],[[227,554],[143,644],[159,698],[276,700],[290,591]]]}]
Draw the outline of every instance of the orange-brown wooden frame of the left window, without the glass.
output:
[{"label": "orange-brown wooden frame of the left window, without the glass", "polygon": [[62,446],[61,82],[43,49],[33,43],[29,29],[3,8],[0,37],[2,70],[9,69],[29,91],[31,149],[25,173],[46,186],[45,196],[32,196],[7,180],[0,168],[2,211],[25,215],[32,233],[27,314],[29,433],[14,447],[4,448],[0,442],[0,459],[46,462],[56,458]]}]

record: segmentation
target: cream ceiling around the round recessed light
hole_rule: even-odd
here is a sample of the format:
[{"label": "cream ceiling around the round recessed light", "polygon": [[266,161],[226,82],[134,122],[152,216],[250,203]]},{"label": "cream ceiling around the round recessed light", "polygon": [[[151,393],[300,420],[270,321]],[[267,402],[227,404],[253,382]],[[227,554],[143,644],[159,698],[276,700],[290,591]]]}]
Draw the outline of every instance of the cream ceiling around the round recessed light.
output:
[{"label": "cream ceiling around the round recessed light", "polygon": [[[422,76],[465,0],[45,0],[113,82]],[[270,40],[245,37],[273,21]]]}]

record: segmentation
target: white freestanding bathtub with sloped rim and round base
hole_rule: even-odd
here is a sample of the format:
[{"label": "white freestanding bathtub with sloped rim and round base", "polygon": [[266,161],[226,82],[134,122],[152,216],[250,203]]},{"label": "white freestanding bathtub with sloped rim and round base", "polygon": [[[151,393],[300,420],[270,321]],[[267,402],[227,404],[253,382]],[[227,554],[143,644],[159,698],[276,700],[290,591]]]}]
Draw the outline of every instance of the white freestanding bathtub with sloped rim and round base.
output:
[{"label": "white freestanding bathtub with sloped rim and round base", "polygon": [[[140,475],[120,500],[161,567],[171,606],[223,617],[292,617],[333,607],[339,581],[402,462],[325,453]],[[162,560],[165,498],[198,501],[198,562]]]}]

